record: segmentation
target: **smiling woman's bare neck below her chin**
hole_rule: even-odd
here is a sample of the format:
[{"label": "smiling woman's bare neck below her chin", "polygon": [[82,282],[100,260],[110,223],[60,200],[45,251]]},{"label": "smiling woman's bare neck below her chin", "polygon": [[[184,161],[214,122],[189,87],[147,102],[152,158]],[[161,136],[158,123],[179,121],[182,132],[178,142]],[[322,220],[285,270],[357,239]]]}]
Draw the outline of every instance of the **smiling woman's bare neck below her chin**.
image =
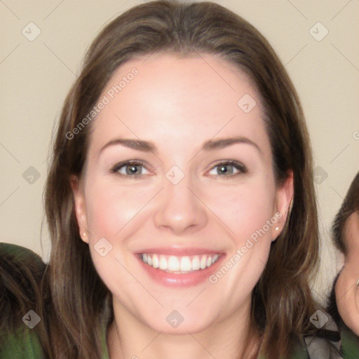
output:
[{"label": "smiling woman's bare neck below her chin", "polygon": [[260,340],[250,327],[250,303],[230,318],[201,332],[184,331],[182,334],[156,332],[117,303],[114,305],[114,321],[107,334],[109,358],[255,359]]}]

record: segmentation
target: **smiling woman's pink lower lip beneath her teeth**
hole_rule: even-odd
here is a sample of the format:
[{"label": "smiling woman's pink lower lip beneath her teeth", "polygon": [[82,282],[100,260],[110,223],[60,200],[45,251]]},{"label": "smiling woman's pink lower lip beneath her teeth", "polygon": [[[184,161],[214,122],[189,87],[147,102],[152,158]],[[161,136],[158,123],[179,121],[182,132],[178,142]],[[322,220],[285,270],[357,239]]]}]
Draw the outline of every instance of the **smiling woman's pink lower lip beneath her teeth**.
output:
[{"label": "smiling woman's pink lower lip beneath her teeth", "polygon": [[157,283],[165,285],[166,287],[189,287],[208,280],[209,276],[216,271],[224,256],[220,255],[217,262],[206,269],[200,269],[198,271],[184,274],[167,273],[161,269],[156,269],[153,266],[145,264],[142,262],[140,257],[136,257],[140,261],[140,264],[142,264],[143,269]]}]

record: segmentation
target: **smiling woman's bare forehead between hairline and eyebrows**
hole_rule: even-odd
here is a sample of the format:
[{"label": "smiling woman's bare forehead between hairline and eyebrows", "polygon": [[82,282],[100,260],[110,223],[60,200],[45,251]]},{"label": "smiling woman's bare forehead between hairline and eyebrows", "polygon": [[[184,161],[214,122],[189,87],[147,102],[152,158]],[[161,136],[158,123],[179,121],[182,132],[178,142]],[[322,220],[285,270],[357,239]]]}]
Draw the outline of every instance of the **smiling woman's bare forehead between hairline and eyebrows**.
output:
[{"label": "smiling woman's bare forehead between hairline and eyebrows", "polygon": [[159,147],[184,151],[184,144],[188,148],[213,137],[241,135],[269,149],[251,79],[215,55],[153,54],[130,60],[116,69],[100,100],[106,104],[91,123],[92,151],[116,136],[160,141]]}]

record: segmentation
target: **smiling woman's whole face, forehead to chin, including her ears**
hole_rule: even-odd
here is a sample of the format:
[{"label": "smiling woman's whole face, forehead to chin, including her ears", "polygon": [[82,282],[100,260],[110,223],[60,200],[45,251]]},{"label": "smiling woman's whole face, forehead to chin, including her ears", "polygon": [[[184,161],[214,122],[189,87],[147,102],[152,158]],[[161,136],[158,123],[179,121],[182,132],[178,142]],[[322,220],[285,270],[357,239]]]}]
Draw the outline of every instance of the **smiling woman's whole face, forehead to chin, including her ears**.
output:
[{"label": "smiling woman's whole face, forehead to chin, including her ears", "polygon": [[72,185],[115,313],[168,333],[247,318],[292,198],[248,77],[212,55],[155,54],[118,68],[100,102]]}]

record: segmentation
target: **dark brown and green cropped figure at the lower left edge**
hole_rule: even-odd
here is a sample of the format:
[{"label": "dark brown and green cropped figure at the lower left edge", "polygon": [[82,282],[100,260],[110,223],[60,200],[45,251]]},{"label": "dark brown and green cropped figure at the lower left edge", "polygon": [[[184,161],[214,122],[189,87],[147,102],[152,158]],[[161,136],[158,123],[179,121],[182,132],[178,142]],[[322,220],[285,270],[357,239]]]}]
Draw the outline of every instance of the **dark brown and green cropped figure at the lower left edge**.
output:
[{"label": "dark brown and green cropped figure at the lower left edge", "polygon": [[42,325],[31,325],[31,311],[45,318],[48,298],[43,298],[43,306],[39,301],[45,268],[32,250],[0,243],[0,359],[45,358],[40,338],[46,333]]}]

